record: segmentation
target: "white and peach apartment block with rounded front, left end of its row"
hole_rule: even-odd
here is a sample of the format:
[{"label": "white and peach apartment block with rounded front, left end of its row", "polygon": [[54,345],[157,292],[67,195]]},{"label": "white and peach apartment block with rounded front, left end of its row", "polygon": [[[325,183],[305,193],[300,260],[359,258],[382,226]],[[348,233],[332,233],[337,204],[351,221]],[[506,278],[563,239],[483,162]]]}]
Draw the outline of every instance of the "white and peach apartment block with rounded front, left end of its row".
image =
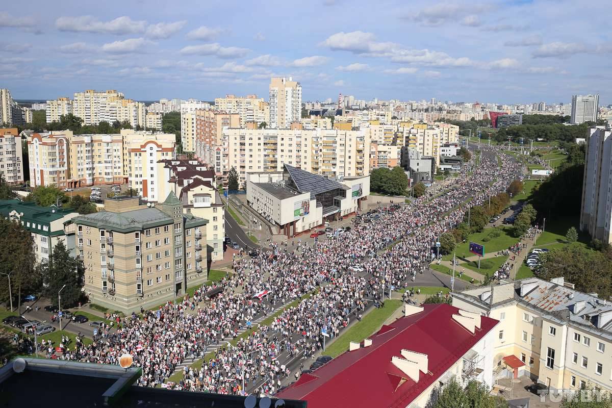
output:
[{"label": "white and peach apartment block with rounded front, left end of its row", "polygon": [[28,137],[30,185],[56,185],[67,188],[69,179],[69,146],[72,132],[32,133]]}]

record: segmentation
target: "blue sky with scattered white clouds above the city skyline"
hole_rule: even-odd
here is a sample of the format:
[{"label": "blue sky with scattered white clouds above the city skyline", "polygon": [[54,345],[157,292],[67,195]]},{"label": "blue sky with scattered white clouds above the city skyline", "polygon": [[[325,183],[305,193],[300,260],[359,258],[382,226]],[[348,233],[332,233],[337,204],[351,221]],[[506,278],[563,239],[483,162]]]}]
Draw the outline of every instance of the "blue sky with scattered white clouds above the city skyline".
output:
[{"label": "blue sky with scattered white clouds above the city skyline", "polygon": [[0,5],[0,87],[16,99],[612,103],[608,1],[30,0]]}]

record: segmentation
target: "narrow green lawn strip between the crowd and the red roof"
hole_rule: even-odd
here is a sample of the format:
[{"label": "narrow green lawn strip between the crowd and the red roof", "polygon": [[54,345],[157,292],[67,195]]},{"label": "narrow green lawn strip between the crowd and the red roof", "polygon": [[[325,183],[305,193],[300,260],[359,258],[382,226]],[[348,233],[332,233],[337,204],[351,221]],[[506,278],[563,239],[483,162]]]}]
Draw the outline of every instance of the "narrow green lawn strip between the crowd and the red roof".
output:
[{"label": "narrow green lawn strip between the crowd and the red roof", "polygon": [[335,339],[327,349],[323,352],[325,355],[337,357],[348,350],[351,341],[361,342],[363,339],[373,335],[378,330],[384,321],[391,316],[398,307],[401,306],[401,300],[392,299],[385,300],[384,307],[370,311],[360,322],[354,324],[351,328],[342,333]]}]

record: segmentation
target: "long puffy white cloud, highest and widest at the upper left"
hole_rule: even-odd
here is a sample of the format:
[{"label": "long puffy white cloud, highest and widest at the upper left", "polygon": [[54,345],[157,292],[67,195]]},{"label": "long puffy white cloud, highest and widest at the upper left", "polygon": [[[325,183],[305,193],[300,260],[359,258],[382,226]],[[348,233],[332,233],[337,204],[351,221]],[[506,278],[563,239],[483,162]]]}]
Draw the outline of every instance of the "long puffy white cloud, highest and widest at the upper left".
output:
[{"label": "long puffy white cloud, highest and widest at the upper left", "polygon": [[140,34],[145,31],[147,22],[132,20],[122,16],[111,21],[99,21],[91,15],[80,17],[59,17],[55,26],[59,31],[99,32],[103,34]]}]

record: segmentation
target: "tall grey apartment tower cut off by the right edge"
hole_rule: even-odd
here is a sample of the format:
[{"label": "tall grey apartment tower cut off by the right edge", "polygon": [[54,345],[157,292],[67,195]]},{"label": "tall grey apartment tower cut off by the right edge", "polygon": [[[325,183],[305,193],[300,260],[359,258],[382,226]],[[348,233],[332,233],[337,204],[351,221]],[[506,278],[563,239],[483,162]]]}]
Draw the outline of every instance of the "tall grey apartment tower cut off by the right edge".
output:
[{"label": "tall grey apartment tower cut off by the right edge", "polygon": [[580,208],[580,230],[594,239],[612,242],[612,130],[590,128],[586,135],[586,156]]}]

